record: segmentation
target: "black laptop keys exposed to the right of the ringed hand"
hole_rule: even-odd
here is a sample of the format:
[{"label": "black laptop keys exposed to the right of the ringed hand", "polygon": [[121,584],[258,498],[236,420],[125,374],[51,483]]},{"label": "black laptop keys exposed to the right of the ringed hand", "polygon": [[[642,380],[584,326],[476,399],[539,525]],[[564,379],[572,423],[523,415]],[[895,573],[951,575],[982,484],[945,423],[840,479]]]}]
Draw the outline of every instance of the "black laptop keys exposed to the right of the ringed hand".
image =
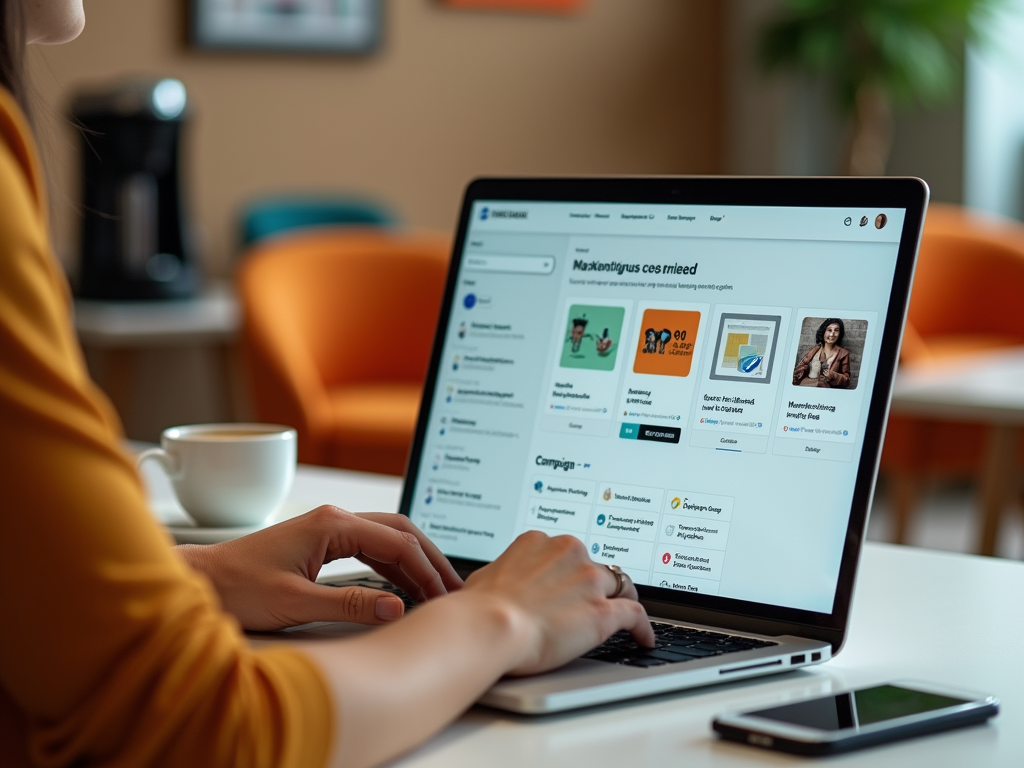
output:
[{"label": "black laptop keys exposed to the right of the ringed hand", "polygon": [[650,626],[654,629],[653,648],[637,645],[633,636],[623,631],[616,632],[583,657],[629,667],[660,667],[778,645],[768,640],[677,627],[662,622],[651,622]]}]

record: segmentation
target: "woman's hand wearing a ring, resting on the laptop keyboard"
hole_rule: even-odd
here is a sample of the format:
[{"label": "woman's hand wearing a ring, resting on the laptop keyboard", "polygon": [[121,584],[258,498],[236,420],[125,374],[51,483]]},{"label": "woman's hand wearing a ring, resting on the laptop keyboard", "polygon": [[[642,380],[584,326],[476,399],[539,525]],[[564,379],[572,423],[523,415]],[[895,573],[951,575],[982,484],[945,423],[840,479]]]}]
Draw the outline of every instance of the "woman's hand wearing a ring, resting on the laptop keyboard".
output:
[{"label": "woman's hand wearing a ring, resting on the laptop keyboard", "polygon": [[474,572],[464,591],[511,608],[526,642],[509,673],[529,675],[566,664],[618,630],[629,630],[639,644],[653,647],[647,612],[629,577],[624,573],[623,579],[621,594],[609,597],[617,578],[591,560],[579,539],[531,530]]}]

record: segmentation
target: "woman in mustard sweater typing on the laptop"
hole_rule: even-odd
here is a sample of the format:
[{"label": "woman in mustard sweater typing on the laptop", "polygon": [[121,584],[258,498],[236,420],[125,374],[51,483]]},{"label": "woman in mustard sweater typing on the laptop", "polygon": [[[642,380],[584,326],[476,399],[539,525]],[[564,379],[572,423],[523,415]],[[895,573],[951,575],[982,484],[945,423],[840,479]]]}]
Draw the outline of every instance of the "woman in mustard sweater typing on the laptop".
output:
[{"label": "woman in mustard sweater typing on the laptop", "polygon": [[[465,585],[398,515],[322,507],[172,549],[76,346],[24,111],[26,43],[81,0],[0,0],[0,765],[366,766],[457,717],[504,674],[557,667],[620,629],[636,590],[539,532]],[[358,557],[420,600],[314,583]],[[256,652],[241,632],[388,626]]]}]

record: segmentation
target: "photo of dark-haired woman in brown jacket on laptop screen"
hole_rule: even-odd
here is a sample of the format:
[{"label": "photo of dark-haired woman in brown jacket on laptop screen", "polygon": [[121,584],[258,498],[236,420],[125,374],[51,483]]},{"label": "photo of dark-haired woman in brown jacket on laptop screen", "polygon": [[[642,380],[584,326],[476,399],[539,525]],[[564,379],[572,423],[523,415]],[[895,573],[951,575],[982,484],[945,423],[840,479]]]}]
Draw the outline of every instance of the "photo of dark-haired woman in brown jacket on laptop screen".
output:
[{"label": "photo of dark-haired woman in brown jacket on laptop screen", "polygon": [[856,389],[866,336],[866,319],[804,317],[793,369],[794,386]]}]

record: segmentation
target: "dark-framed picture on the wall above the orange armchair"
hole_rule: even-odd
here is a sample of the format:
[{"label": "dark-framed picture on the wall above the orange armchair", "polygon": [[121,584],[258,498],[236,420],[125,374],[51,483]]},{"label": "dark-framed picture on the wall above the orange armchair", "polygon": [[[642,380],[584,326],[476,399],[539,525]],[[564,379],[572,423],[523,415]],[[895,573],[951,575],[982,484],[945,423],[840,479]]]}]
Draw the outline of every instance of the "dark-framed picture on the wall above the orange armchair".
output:
[{"label": "dark-framed picture on the wall above the orange armchair", "polygon": [[191,43],[208,50],[369,53],[381,0],[189,0]]}]

